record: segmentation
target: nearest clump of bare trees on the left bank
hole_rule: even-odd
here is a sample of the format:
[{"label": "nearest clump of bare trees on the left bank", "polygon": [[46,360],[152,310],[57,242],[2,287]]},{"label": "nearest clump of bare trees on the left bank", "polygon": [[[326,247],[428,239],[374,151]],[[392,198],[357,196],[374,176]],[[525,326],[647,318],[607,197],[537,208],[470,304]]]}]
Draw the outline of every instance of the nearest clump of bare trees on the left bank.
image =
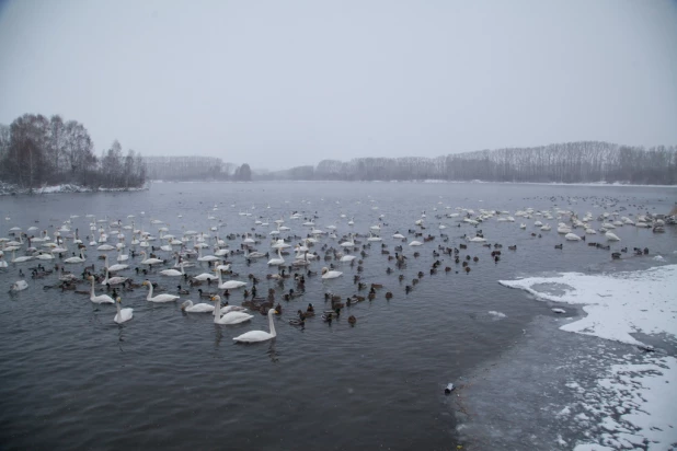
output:
[{"label": "nearest clump of bare trees on the left bank", "polygon": [[0,181],[28,189],[66,183],[131,188],[146,182],[146,165],[131,149],[124,155],[117,140],[97,158],[87,128],[76,120],[25,114],[0,125]]}]

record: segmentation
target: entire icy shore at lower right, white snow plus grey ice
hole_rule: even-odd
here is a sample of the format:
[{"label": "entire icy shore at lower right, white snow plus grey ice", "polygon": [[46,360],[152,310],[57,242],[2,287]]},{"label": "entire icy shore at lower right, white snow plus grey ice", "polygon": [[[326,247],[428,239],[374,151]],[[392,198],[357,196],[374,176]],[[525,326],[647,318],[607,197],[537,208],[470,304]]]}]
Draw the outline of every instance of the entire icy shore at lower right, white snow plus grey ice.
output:
[{"label": "entire icy shore at lower right, white snow plus grey ice", "polygon": [[459,433],[468,449],[673,449],[676,276],[673,264],[500,281],[586,314],[570,308],[538,319],[524,340],[460,388]]}]

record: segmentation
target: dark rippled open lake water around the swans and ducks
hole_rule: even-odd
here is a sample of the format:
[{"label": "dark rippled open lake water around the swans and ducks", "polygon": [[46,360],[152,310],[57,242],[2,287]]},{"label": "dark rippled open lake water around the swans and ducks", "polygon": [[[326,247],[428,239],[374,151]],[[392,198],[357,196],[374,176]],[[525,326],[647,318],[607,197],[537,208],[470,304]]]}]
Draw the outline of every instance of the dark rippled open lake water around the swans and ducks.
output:
[{"label": "dark rippled open lake water around the swans and ducks", "polygon": [[[144,228],[151,218],[169,223],[180,234],[182,227],[207,231],[216,221],[226,221],[219,233],[251,231],[259,216],[271,223],[280,216],[291,233],[305,234],[302,220],[290,220],[292,210],[319,217],[317,224],[335,223],[341,234],[351,230],[367,233],[369,226],[385,215],[381,236],[392,252],[390,236],[414,228],[426,211],[426,233],[437,238],[416,248],[406,248],[409,264],[398,280],[399,270],[372,245],[364,262],[363,280],[383,284],[376,300],[346,308],[340,321],[328,325],[310,319],[303,329],[287,324],[298,309],[312,302],[324,305],[323,293],[342,297],[356,292],[356,267],[342,266],[344,276],[322,281],[310,278],[306,294],[288,303],[276,319],[275,340],[255,345],[234,345],[232,337],[254,328],[267,328],[264,316],[255,314],[248,323],[215,325],[207,314],[182,314],[179,303],[147,302],[146,291],[125,293],[124,304],[134,308],[134,320],[123,325],[113,322],[112,305],[92,304],[87,296],[43,290],[55,284],[56,275],[31,280],[31,287],[8,296],[19,268],[27,273],[35,263],[10,264],[0,274],[4,291],[0,302],[0,443],[2,449],[455,449],[454,406],[444,395],[447,382],[462,380],[483,361],[509,348],[523,328],[538,315],[552,315],[548,304],[535,302],[523,292],[503,288],[498,279],[558,270],[616,270],[646,266],[655,251],[670,250],[675,229],[664,234],[651,230],[619,228],[621,242],[615,245],[649,246],[649,257],[611,262],[608,251],[586,243],[564,243],[554,231],[530,235],[516,222],[495,219],[480,228],[490,242],[504,244],[502,261],[494,264],[490,250],[469,244],[461,256],[479,256],[471,273],[460,273],[448,257],[444,266],[452,270],[431,276],[433,250],[441,244],[437,213],[446,206],[508,210],[532,207],[564,209],[596,217],[608,210],[623,212],[667,212],[675,189],[644,187],[584,187],[500,184],[415,184],[415,183],[252,183],[252,184],[154,184],[149,192],[122,194],[76,194],[39,197],[0,198],[0,228],[5,235],[13,226],[35,224],[55,230],[70,215],[73,228],[87,231],[84,215],[110,220],[136,215]],[[218,205],[218,210],[213,207]],[[234,206],[233,206],[234,205]],[[269,206],[269,208],[267,208]],[[253,207],[253,208],[252,208]],[[377,209],[378,208],[378,209]],[[437,211],[434,209],[437,208]],[[141,216],[140,212],[145,215]],[[240,212],[252,216],[241,216]],[[177,215],[183,218],[179,218]],[[340,215],[346,215],[343,219]],[[355,226],[347,220],[354,217]],[[542,220],[542,219],[541,219]],[[35,221],[38,221],[37,223]],[[463,233],[474,228],[457,228],[457,219],[444,219],[450,236],[446,245],[457,246]],[[137,222],[137,227],[140,226]],[[256,228],[267,234],[271,229]],[[410,236],[410,240],[413,236]],[[590,236],[588,236],[588,240]],[[595,238],[601,241],[599,238]],[[237,248],[241,239],[230,242]],[[333,243],[324,238],[323,242]],[[363,239],[366,243],[366,240]],[[378,243],[377,243],[378,244]],[[507,251],[517,244],[516,252]],[[268,243],[257,248],[267,251]],[[319,247],[315,247],[319,251]],[[99,253],[88,250],[91,264]],[[666,261],[674,261],[672,254]],[[8,257],[10,259],[11,257]],[[290,257],[287,257],[289,261]],[[260,293],[268,288],[265,275],[273,273],[265,259],[246,267],[241,256],[232,258],[241,278],[255,274],[263,278]],[[101,261],[95,261],[101,267]],[[191,268],[191,274],[203,273]],[[315,263],[319,269],[325,263]],[[341,264],[337,263],[337,266]],[[80,271],[82,265],[73,265]],[[133,265],[134,267],[134,265]],[[406,294],[404,286],[418,270],[425,276]],[[457,274],[456,270],[459,270]],[[133,276],[134,271],[122,273]],[[141,279],[134,276],[137,281]],[[173,278],[149,277],[162,287],[176,285]],[[276,285],[269,284],[276,288]],[[291,288],[286,282],[285,290]],[[204,287],[203,287],[204,288]],[[387,301],[383,293],[394,297]],[[197,302],[197,293],[182,297]],[[238,303],[241,293],[230,301]],[[505,317],[490,314],[501,312]],[[354,314],[352,327],[346,317]]]}]

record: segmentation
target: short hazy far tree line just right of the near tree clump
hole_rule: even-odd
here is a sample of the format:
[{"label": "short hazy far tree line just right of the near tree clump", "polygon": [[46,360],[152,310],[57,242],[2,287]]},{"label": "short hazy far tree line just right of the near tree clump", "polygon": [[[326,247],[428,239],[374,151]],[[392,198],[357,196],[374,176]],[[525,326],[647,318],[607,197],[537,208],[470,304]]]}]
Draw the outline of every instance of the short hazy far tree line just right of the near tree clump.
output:
[{"label": "short hazy far tree line just right of the near tree clump", "polygon": [[244,163],[238,166],[216,157],[147,157],[146,166],[151,180],[161,181],[234,181],[250,182],[252,170]]}]

